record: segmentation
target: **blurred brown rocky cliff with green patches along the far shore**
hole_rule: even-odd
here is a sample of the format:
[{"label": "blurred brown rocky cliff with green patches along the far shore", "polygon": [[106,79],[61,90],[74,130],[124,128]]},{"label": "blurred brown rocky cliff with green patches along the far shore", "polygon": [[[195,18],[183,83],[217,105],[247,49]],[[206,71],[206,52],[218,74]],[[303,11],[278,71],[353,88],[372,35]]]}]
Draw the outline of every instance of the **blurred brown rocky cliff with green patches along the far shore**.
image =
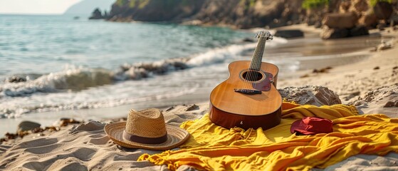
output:
[{"label": "blurred brown rocky cliff with green patches along the far shore", "polygon": [[[352,12],[358,19],[362,16],[375,15],[370,2],[368,0],[117,0],[107,18],[110,21],[191,22],[235,28],[277,27],[298,23],[320,27],[323,17],[330,13]],[[371,17],[375,19],[374,16]],[[369,19],[367,17],[364,20]],[[375,26],[375,21],[372,24],[367,26]]]}]

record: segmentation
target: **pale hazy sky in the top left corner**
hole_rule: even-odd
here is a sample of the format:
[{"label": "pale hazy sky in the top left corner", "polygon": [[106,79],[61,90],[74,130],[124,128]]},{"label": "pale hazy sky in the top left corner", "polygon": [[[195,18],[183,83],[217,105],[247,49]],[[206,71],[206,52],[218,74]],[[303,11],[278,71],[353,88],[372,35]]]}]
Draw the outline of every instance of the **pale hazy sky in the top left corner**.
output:
[{"label": "pale hazy sky in the top left corner", "polygon": [[0,14],[63,14],[81,0],[0,0]]}]

